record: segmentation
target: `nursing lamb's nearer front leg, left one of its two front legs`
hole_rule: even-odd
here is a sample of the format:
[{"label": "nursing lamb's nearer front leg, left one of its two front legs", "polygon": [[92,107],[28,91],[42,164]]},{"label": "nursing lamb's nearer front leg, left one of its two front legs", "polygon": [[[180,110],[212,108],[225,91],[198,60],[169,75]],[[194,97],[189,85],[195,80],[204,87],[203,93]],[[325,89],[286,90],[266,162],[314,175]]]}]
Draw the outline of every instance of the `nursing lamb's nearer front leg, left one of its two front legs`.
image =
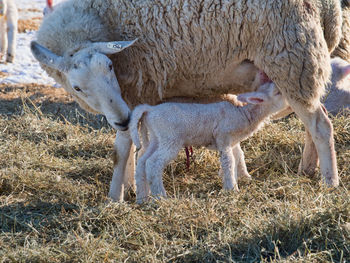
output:
[{"label": "nursing lamb's nearer front leg, left one of its two front legs", "polygon": [[220,150],[220,162],[223,173],[223,189],[238,191],[237,165],[231,147],[228,146]]}]

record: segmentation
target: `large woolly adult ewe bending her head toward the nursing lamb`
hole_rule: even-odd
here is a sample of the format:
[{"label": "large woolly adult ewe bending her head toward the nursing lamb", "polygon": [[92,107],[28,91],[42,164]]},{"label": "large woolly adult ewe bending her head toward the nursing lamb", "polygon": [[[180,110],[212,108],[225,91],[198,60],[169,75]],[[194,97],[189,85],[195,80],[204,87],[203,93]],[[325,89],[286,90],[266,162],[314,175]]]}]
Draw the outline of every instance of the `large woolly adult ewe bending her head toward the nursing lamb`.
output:
[{"label": "large woolly adult ewe bending her head toward the nursing lamb", "polygon": [[[123,200],[124,184],[133,176],[125,173],[131,148],[125,131],[129,109],[171,97],[245,91],[236,76],[246,59],[287,98],[317,146],[324,181],[337,186],[333,127],[319,98],[330,74],[329,52],[341,36],[341,11],[336,0],[326,5],[338,13],[326,42],[322,26],[330,25],[321,23],[328,12],[319,3],[70,0],[43,21],[31,49],[83,108],[104,113],[121,130],[109,192],[113,200]],[[136,38],[134,44],[108,42]],[[110,77],[113,68],[118,81]]]}]

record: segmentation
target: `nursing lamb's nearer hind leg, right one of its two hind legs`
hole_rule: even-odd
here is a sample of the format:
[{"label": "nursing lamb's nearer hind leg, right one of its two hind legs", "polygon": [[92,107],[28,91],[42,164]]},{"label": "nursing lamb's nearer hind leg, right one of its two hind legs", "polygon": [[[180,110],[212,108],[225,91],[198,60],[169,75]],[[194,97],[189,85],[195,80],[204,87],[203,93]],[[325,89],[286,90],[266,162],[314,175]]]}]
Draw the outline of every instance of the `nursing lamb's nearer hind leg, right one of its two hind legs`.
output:
[{"label": "nursing lamb's nearer hind leg, right one of its two hind legs", "polygon": [[176,147],[174,143],[167,145],[159,143],[146,161],[146,177],[153,197],[166,197],[162,180],[163,170],[171,160],[176,158],[179,151],[180,148]]}]

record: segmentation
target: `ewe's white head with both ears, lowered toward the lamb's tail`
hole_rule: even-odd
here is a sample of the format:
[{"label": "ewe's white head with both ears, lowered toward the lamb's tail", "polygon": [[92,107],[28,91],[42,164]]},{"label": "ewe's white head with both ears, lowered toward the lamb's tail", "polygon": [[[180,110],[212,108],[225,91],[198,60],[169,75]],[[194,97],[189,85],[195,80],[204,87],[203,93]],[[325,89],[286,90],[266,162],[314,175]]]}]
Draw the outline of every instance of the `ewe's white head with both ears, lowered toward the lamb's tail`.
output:
[{"label": "ewe's white head with both ears, lowered toward the lamb's tail", "polygon": [[110,125],[126,130],[130,109],[121,97],[112,61],[107,57],[131,46],[135,41],[98,42],[58,56],[37,42],[31,51],[40,63],[56,69],[67,79],[73,96],[96,112],[104,114]]}]

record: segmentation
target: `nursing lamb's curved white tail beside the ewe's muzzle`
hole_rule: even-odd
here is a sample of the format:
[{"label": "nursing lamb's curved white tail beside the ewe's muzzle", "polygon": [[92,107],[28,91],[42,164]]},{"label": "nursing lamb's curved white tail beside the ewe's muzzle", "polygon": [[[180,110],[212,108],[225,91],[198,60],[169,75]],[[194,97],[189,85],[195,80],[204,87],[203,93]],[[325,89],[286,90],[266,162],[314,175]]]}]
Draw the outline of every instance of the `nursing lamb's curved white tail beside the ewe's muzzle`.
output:
[{"label": "nursing lamb's curved white tail beside the ewe's muzzle", "polygon": [[[131,114],[131,120],[130,120],[130,137],[133,141],[133,143],[136,146],[136,149],[141,149],[141,142],[140,142],[140,136],[139,136],[139,122],[141,121],[143,115],[150,111],[152,106],[143,104],[137,106],[132,114]],[[141,123],[141,125],[145,125],[144,123]]]}]

